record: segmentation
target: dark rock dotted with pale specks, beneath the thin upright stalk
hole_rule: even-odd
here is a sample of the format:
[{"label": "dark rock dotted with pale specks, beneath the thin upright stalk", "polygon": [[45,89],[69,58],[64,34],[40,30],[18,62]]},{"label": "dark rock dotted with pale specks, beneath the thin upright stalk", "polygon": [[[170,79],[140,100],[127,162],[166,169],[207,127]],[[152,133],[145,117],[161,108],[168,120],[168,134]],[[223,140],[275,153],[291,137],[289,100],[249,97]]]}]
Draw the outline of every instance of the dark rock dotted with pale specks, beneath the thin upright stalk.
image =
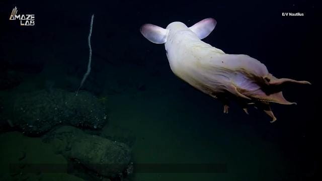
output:
[{"label": "dark rock dotted with pale specks, beneath the thin upright stalk", "polygon": [[41,135],[56,125],[101,129],[108,120],[104,106],[88,92],[42,90],[16,97],[12,124],[27,135]]}]

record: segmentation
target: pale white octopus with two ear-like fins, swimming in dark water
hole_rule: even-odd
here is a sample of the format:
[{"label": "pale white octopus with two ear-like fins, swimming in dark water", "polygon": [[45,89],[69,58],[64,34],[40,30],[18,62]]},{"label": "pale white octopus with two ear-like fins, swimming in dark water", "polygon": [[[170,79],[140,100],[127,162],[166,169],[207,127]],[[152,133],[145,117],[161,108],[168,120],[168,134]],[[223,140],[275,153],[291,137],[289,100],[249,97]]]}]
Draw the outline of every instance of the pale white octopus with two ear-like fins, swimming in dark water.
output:
[{"label": "pale white octopus with two ear-like fins, swimming in dark water", "polygon": [[190,85],[224,103],[228,112],[228,98],[236,97],[246,113],[247,105],[255,104],[276,120],[269,102],[295,104],[286,101],[280,85],[284,82],[309,83],[288,78],[276,78],[266,66],[248,55],[225,54],[201,39],[214,29],[212,18],[188,28],[173,22],[166,29],[151,24],[141,27],[141,33],[153,43],[165,43],[172,71]]}]

